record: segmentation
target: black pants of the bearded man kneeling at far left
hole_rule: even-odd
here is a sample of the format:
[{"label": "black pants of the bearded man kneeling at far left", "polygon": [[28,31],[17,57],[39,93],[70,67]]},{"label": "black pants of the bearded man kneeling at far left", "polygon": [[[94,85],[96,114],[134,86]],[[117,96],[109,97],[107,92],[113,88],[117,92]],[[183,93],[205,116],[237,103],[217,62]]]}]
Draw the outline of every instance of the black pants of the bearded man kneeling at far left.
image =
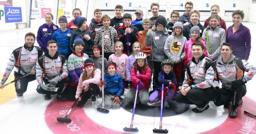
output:
[{"label": "black pants of the bearded man kneeling at far left", "polygon": [[[21,78],[22,74],[19,74],[17,72],[14,72],[14,79]],[[14,82],[16,93],[21,94],[25,93],[28,88],[28,82],[31,82],[33,80],[36,80],[36,75],[28,75],[24,78],[18,79]]]}]

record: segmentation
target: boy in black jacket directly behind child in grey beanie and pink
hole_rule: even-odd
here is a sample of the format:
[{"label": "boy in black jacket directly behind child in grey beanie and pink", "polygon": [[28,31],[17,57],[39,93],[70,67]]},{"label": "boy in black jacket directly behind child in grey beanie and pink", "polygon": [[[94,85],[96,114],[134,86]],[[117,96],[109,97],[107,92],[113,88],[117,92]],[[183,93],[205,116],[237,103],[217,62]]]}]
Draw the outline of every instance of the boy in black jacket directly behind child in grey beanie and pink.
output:
[{"label": "boy in black jacket directly behind child in grey beanie and pink", "polygon": [[191,27],[197,25],[200,29],[200,37],[202,37],[205,27],[203,25],[201,25],[200,22],[198,22],[198,20],[200,19],[200,13],[198,12],[198,10],[193,10],[190,13],[190,19],[191,19],[191,23],[189,23],[188,25],[186,25],[184,27],[183,36],[186,37],[187,40],[189,40],[189,38],[190,38],[189,34],[190,34]]}]

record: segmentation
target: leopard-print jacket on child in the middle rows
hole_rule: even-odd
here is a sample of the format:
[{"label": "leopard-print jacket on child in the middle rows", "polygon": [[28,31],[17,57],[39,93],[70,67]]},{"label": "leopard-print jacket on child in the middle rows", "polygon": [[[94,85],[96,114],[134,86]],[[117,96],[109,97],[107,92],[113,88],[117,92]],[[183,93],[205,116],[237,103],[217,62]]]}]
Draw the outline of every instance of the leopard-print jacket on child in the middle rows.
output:
[{"label": "leopard-print jacket on child in the middle rows", "polygon": [[106,29],[104,26],[100,27],[94,38],[94,45],[102,45],[102,33],[104,33],[104,53],[115,52],[114,44],[116,41],[118,41],[116,29],[111,26],[108,29]]}]

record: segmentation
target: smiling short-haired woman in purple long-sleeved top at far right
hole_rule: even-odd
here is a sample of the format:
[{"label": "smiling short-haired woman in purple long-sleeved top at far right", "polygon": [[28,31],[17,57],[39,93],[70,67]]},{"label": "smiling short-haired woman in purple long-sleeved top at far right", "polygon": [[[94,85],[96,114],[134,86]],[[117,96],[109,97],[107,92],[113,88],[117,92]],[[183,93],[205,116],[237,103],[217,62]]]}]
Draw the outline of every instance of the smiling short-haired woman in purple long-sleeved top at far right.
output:
[{"label": "smiling short-haired woman in purple long-sleeved top at far right", "polygon": [[227,42],[231,44],[233,54],[247,62],[251,51],[250,29],[241,22],[244,19],[244,12],[236,10],[232,14],[233,25],[228,27]]}]

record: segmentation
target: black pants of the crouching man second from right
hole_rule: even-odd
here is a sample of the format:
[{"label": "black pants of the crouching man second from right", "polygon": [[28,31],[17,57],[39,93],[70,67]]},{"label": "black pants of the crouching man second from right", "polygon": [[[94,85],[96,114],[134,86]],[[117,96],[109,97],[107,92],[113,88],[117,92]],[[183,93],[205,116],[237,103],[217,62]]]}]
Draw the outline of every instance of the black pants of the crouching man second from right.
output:
[{"label": "black pants of the crouching man second from right", "polygon": [[214,88],[190,89],[184,96],[181,92],[177,93],[175,100],[178,103],[194,104],[198,108],[204,107],[209,101],[214,100],[218,95],[218,90]]}]

